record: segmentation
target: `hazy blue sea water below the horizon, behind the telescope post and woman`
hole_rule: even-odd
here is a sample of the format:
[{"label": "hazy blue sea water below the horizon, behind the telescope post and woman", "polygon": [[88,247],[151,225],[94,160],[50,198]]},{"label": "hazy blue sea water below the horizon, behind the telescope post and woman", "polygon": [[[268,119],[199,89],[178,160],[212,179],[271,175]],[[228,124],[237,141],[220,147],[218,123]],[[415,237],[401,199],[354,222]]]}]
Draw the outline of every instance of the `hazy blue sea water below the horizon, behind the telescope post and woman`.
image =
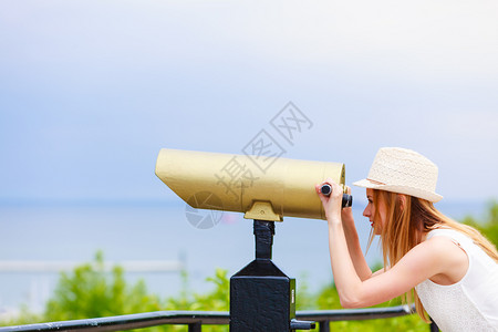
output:
[{"label": "hazy blue sea water below the horizon, behind the telescope post and woman", "polygon": [[[445,203],[443,212],[461,219],[481,217],[486,203]],[[362,204],[353,208],[362,248],[366,247],[370,222],[362,217]],[[0,261],[93,260],[102,250],[105,260],[181,260],[188,271],[188,287],[195,292],[211,289],[206,282],[216,268],[236,273],[255,258],[252,220],[241,214],[224,212],[218,225],[195,228],[186,218],[185,204],[2,204],[0,205]],[[318,291],[332,281],[328,228],[323,220],[284,218],[277,222],[273,261],[299,287]],[[381,261],[377,242],[366,255],[369,263]],[[58,273],[0,272],[0,314],[22,303],[40,311],[52,293]],[[129,282],[144,279],[151,292],[177,295],[178,272],[127,273]]]}]

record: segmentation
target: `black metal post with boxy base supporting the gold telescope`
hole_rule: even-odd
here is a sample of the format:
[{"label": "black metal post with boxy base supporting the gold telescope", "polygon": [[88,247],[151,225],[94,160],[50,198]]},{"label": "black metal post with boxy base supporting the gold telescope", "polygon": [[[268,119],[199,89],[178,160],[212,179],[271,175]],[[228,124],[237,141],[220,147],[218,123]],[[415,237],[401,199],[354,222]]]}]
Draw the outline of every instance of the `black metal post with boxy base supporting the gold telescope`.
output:
[{"label": "black metal post with boxy base supporting the gold telescope", "polygon": [[295,320],[295,279],[271,261],[274,221],[255,220],[256,259],[230,278],[230,332],[314,329]]}]

